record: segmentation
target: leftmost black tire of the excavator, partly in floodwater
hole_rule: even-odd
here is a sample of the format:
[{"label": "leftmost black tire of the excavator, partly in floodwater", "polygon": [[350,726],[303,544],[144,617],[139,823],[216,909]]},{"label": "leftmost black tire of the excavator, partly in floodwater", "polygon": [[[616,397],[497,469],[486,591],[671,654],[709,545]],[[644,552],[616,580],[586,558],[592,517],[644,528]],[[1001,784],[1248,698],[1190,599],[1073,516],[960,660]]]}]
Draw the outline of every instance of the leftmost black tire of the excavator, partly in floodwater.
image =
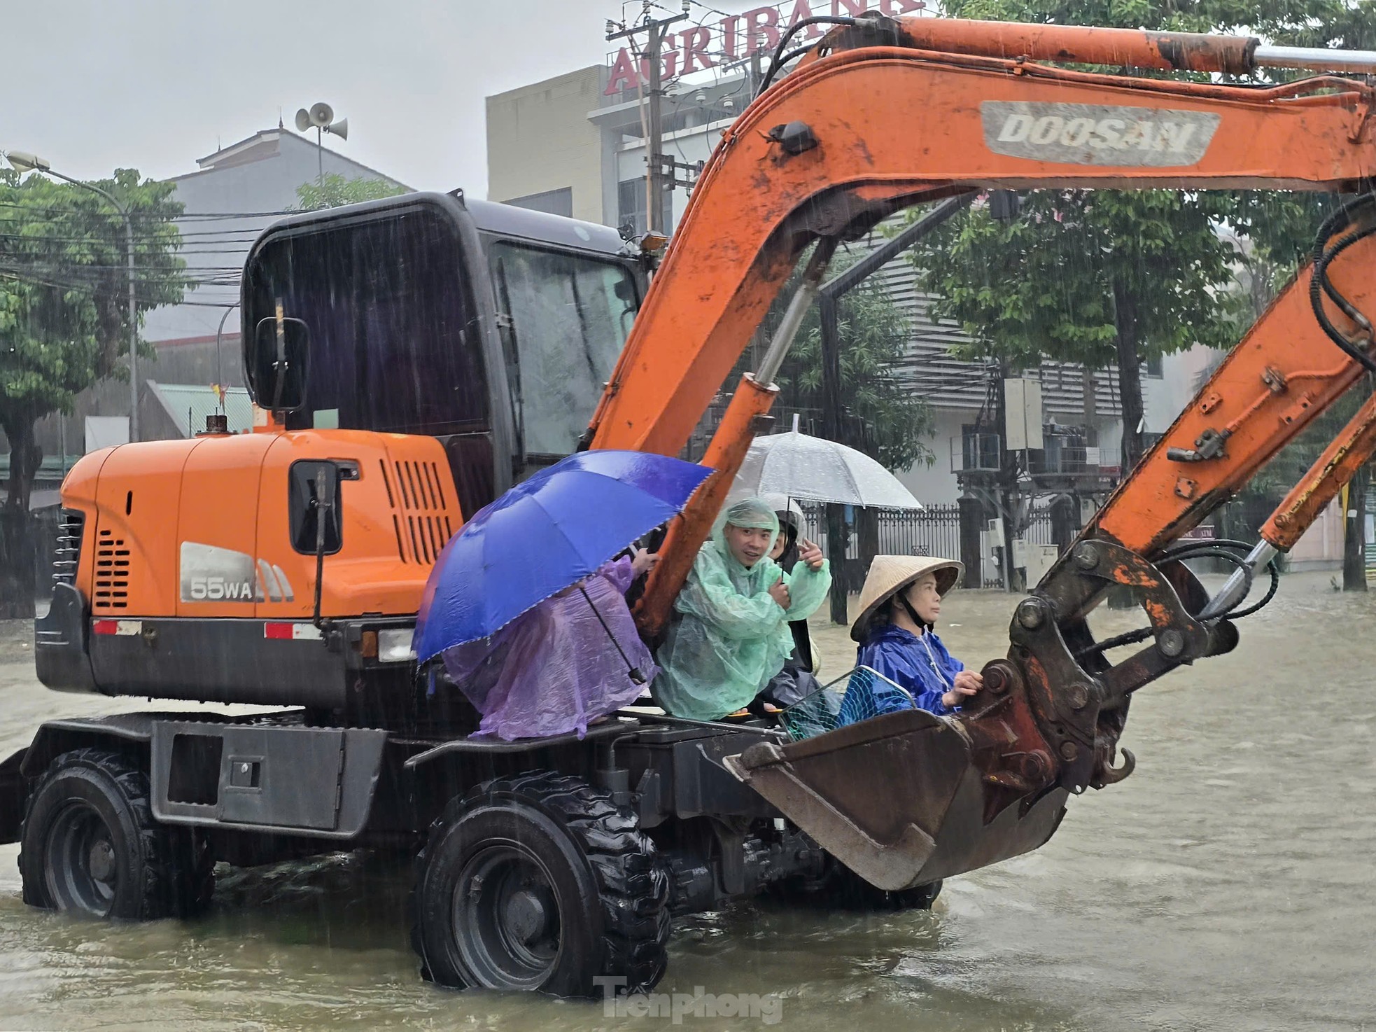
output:
[{"label": "leftmost black tire of the excavator, partly in floodwater", "polygon": [[63,753],[29,795],[19,831],[23,901],[91,918],[204,911],[215,860],[191,828],[158,824],[149,777],[102,749]]}]

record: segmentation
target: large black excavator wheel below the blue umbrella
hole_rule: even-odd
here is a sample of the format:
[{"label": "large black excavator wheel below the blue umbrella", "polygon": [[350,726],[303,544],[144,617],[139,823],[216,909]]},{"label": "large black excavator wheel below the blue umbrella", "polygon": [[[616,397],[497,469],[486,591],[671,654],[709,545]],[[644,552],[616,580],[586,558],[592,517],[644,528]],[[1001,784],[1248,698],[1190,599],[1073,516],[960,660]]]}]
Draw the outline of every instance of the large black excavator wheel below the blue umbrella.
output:
[{"label": "large black excavator wheel below the blue umbrella", "polygon": [[636,992],[665,973],[669,874],[634,815],[534,772],[455,797],[417,859],[421,974],[461,989]]}]

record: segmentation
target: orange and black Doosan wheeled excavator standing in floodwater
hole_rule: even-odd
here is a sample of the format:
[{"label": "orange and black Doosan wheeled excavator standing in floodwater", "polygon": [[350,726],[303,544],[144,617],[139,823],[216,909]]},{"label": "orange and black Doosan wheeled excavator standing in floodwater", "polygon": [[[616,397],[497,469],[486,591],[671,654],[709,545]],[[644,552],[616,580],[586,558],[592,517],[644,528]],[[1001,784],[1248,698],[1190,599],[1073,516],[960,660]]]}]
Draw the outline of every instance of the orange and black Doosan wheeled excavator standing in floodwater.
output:
[{"label": "orange and black Doosan wheeled excavator standing in floodwater", "polygon": [[[1218,594],[1185,566],[1182,535],[1376,370],[1376,200],[1364,193],[1376,94],[1336,74],[1225,85],[1066,66],[1243,77],[1370,72],[1376,54],[824,21],[725,133],[648,292],[641,255],[603,227],[458,193],[263,234],[242,299],[255,432],[209,427],[83,458],[63,484],[36,656],[63,691],[285,709],[44,724],[0,764],[0,841],[21,842],[26,901],[193,914],[217,860],[410,843],[427,977],[644,988],[663,973],[671,912],[799,885],[929,905],[943,878],[1035,849],[1069,795],[1131,772],[1117,743],[1132,692],[1233,648],[1254,579],[1376,450],[1368,400],[1262,541],[1227,553],[1236,574]],[[637,614],[649,640],[838,242],[989,189],[1259,186],[1353,200],[1018,603],[1010,652],[984,667],[974,707],[801,742],[647,710],[582,739],[494,742],[469,733],[475,714],[443,671],[416,669],[410,632],[444,541],[575,447],[678,454],[809,245],[802,286],[703,460],[716,473],[669,528]],[[1113,588],[1149,627],[1095,641],[1087,616]],[[1135,643],[1148,644],[1109,660]]]}]

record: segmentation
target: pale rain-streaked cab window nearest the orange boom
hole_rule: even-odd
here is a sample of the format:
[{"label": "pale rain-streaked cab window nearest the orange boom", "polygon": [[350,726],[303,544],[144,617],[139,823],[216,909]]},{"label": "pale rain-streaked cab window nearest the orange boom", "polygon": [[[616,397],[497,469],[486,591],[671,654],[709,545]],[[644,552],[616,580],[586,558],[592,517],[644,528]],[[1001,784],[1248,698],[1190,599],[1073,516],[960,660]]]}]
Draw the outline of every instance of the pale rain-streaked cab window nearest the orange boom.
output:
[{"label": "pale rain-streaked cab window nearest the orange boom", "polygon": [[567,455],[630,333],[636,281],[616,261],[504,239],[488,260],[526,455]]}]

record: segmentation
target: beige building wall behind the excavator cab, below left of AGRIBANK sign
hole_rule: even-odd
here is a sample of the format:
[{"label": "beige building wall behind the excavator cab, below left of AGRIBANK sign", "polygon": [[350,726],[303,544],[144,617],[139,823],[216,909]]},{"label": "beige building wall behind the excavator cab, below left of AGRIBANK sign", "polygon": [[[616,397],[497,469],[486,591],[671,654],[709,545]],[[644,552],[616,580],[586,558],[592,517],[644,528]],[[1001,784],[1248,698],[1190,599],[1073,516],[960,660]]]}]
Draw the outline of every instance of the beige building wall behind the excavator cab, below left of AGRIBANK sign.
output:
[{"label": "beige building wall behind the excavator cab, below left of AGRIBANK sign", "polygon": [[570,187],[575,219],[615,220],[615,209],[603,211],[603,133],[588,121],[603,76],[593,65],[487,98],[488,200]]}]

